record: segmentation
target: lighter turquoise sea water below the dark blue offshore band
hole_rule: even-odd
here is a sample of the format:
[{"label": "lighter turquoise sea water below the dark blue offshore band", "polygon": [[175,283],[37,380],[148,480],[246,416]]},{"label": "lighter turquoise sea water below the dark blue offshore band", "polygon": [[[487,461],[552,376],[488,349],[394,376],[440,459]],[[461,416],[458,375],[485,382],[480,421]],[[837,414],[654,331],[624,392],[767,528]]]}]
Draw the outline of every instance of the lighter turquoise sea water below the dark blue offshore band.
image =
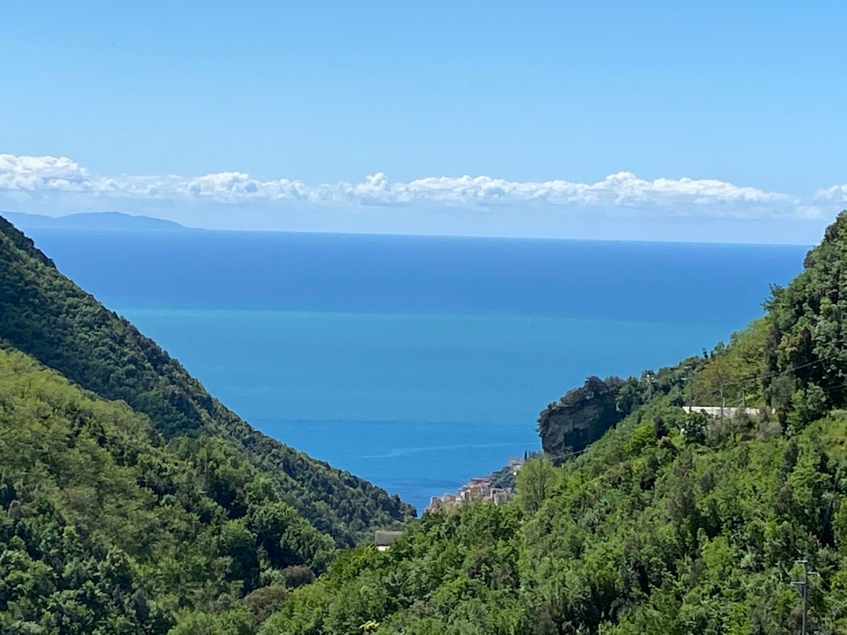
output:
[{"label": "lighter turquoise sea water below the dark blue offshore band", "polygon": [[263,432],[416,505],[537,450],[538,412],[587,374],[675,362],[696,350],[692,341],[715,341],[731,328],[519,316],[119,312]]}]

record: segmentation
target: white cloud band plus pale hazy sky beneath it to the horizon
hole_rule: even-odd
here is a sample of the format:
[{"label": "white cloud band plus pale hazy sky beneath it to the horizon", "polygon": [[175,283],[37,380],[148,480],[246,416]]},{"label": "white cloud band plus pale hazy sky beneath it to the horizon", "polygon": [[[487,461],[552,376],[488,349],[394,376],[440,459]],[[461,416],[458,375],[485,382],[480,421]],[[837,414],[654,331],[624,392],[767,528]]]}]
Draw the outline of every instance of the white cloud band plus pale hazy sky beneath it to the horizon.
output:
[{"label": "white cloud band plus pale hazy sky beneath it to the horizon", "polygon": [[805,242],[845,203],[847,185],[796,196],[631,172],[595,183],[490,176],[403,183],[377,173],[355,183],[309,185],[237,171],[92,174],[69,157],[0,154],[0,209],[48,215],[119,209],[209,229]]}]

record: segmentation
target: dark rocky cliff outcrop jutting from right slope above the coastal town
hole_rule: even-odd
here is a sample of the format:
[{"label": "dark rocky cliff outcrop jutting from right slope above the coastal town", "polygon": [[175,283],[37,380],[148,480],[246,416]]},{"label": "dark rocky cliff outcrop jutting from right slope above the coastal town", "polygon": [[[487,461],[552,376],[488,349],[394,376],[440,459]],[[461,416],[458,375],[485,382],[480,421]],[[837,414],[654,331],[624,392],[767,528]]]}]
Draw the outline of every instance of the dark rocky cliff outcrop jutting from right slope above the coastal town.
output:
[{"label": "dark rocky cliff outcrop jutting from right slope above the coastal town", "polygon": [[561,462],[564,455],[583,450],[623,418],[615,405],[622,385],[621,378],[590,377],[581,388],[570,390],[541,412],[541,447],[553,461]]}]

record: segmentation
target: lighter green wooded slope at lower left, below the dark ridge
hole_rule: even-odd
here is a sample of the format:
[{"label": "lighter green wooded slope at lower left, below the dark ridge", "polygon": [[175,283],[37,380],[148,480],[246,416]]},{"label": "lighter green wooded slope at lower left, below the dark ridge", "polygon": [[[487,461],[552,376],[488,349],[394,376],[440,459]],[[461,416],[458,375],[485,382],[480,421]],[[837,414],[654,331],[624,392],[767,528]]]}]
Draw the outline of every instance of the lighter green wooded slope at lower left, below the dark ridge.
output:
[{"label": "lighter green wooded slope at lower left, below the dark ridge", "polygon": [[[167,632],[250,592],[272,606],[334,549],[224,444],[171,451],[17,351],[0,350],[0,424],[0,632]],[[243,509],[210,494],[232,487]]]}]

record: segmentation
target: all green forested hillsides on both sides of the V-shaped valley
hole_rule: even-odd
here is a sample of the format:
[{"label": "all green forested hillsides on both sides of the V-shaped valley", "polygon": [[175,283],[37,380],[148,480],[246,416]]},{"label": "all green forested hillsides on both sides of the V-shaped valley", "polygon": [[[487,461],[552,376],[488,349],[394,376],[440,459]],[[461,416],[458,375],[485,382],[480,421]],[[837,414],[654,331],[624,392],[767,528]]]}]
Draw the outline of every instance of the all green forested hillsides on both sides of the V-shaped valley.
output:
[{"label": "all green forested hillsides on both sides of the V-shaped valley", "polygon": [[357,505],[364,527],[400,518],[385,494],[285,446],[302,472],[274,472],[273,442],[23,236],[0,240],[6,344],[94,391],[0,351],[4,632],[770,635],[798,632],[804,579],[810,632],[847,632],[847,213],[728,344],[542,413],[562,448],[568,426],[600,439],[527,461],[507,505],[407,521],[385,552],[315,528]]}]

